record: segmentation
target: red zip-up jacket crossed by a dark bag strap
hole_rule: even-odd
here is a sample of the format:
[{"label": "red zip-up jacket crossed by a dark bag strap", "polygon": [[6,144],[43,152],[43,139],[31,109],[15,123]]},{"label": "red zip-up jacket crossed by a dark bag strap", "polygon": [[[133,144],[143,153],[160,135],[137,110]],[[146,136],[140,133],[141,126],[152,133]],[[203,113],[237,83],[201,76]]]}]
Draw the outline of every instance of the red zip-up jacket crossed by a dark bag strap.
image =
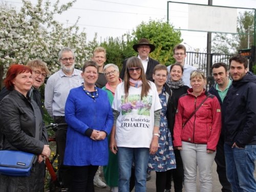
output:
[{"label": "red zip-up jacket crossed by a dark bag strap", "polygon": [[179,99],[174,125],[174,146],[182,146],[181,141],[185,141],[207,144],[207,150],[216,151],[221,133],[221,107],[216,96],[210,95],[185,126],[182,126],[206,97],[205,92],[195,97],[191,94],[192,91],[193,89],[189,89],[188,94]]}]

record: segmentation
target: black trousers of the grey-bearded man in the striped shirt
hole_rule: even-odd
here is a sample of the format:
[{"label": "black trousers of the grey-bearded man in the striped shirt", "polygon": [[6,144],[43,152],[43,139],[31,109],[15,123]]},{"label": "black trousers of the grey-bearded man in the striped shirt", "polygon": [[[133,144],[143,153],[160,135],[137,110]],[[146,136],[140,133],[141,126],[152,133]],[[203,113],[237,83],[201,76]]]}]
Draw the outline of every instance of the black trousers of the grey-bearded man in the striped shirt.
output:
[{"label": "black trousers of the grey-bearded man in the striped shirt", "polygon": [[[55,123],[66,123],[64,116],[54,116]],[[72,170],[70,166],[63,165],[68,126],[58,127],[56,131],[56,145],[58,157],[58,178],[61,187],[70,188],[72,181]]]}]

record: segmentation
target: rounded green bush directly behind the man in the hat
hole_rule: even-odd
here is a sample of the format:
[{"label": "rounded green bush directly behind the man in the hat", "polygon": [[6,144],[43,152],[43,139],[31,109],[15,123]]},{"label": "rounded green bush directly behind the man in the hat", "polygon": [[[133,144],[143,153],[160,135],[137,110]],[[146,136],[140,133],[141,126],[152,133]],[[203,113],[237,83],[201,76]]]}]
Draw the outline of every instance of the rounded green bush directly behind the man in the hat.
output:
[{"label": "rounded green bush directly behind the man in the hat", "polygon": [[170,65],[175,62],[173,58],[173,48],[180,44],[181,32],[174,30],[172,25],[169,25],[163,20],[150,20],[148,23],[142,22],[132,35],[134,36],[132,45],[137,44],[140,38],[147,38],[156,46],[151,57],[158,60],[164,65]]}]

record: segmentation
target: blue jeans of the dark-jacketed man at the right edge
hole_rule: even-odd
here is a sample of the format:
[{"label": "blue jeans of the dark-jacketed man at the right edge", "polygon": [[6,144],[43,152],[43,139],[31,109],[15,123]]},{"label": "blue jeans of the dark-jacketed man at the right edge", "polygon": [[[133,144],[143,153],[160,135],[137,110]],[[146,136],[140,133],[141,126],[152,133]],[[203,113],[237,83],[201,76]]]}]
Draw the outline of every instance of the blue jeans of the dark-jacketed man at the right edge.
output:
[{"label": "blue jeans of the dark-jacketed man at the right edge", "polygon": [[231,147],[224,144],[227,179],[233,192],[256,192],[256,181],[253,177],[256,160],[256,145],[245,145],[245,148]]}]

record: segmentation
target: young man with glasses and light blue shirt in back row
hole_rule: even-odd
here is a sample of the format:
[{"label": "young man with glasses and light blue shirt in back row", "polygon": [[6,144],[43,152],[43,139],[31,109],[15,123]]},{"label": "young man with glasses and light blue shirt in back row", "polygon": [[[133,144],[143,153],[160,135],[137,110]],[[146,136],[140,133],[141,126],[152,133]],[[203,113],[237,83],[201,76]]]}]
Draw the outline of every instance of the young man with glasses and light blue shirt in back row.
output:
[{"label": "young man with glasses and light blue shirt in back row", "polygon": [[[182,80],[185,84],[185,86],[190,86],[190,73],[197,70],[197,68],[185,64],[185,58],[186,58],[186,47],[179,44],[174,47],[174,58],[176,60],[176,63],[179,63],[183,67],[183,75],[182,75]],[[167,67],[168,72],[170,72],[170,66]],[[167,80],[169,80],[169,74]]]}]

